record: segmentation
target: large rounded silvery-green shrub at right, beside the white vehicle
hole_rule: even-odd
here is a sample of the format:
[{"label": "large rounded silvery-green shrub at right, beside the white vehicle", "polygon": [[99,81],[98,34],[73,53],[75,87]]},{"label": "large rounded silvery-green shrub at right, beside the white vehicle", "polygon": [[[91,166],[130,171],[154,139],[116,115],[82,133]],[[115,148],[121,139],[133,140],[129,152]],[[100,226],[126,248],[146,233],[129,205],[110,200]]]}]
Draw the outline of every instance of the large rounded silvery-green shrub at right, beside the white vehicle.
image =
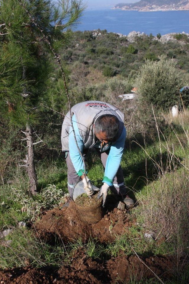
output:
[{"label": "large rounded silvery-green shrub at right, beside the white vehicle", "polygon": [[[184,77],[176,68],[174,59],[162,55],[159,61],[146,60],[136,77],[139,100],[166,108],[180,101],[179,89],[184,85]],[[189,103],[189,99],[188,99]]]}]

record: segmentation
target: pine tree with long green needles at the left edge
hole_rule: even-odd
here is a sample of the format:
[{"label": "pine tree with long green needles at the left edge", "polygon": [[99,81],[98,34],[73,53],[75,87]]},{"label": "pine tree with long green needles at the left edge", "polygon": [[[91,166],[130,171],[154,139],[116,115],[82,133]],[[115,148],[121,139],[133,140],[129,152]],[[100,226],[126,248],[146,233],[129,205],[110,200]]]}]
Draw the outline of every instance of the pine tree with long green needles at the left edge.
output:
[{"label": "pine tree with long green needles at the left edge", "polygon": [[25,127],[23,166],[32,194],[38,186],[34,145],[41,142],[34,142],[34,127],[54,71],[48,42],[55,52],[63,48],[83,10],[80,0],[0,0],[0,107],[10,123]]}]

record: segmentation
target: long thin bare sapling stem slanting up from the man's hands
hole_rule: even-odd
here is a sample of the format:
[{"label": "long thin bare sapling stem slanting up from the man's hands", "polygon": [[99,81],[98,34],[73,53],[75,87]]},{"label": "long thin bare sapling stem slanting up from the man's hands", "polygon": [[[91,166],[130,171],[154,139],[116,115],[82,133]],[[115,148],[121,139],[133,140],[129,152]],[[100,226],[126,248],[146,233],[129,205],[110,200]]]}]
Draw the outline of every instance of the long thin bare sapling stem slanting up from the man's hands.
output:
[{"label": "long thin bare sapling stem slanting up from the man's hands", "polygon": [[65,77],[65,73],[63,71],[63,67],[61,65],[61,58],[60,58],[60,55],[58,53],[55,52],[54,48],[52,47],[51,43],[50,43],[50,40],[49,40],[49,36],[48,35],[45,35],[45,33],[43,32],[43,30],[40,28],[40,26],[35,22],[35,20],[33,19],[32,15],[30,14],[30,12],[26,9],[25,5],[22,3],[22,0],[18,0],[19,1],[19,4],[23,7],[23,9],[25,10],[25,12],[28,14],[31,22],[35,25],[35,27],[37,27],[37,29],[41,32],[41,34],[43,35],[43,38],[44,40],[46,41],[46,43],[48,44],[50,50],[52,51],[54,57],[56,58],[56,61],[57,63],[59,64],[59,67],[61,69],[61,73],[62,73],[62,78],[63,78],[63,82],[64,82],[64,87],[65,87],[65,90],[66,90],[66,95],[67,95],[67,98],[68,98],[68,104],[69,104],[69,113],[70,113],[70,121],[71,121],[71,128],[73,130],[73,134],[74,134],[74,139],[75,139],[75,142],[76,142],[76,146],[77,146],[77,149],[79,151],[79,154],[81,155],[81,158],[82,158],[82,161],[84,163],[84,178],[85,178],[85,181],[86,183],[88,184],[87,182],[87,178],[85,176],[85,173],[86,173],[86,164],[85,164],[85,160],[84,160],[84,157],[82,155],[82,152],[81,150],[79,149],[79,146],[77,144],[77,140],[76,140],[76,134],[75,134],[75,131],[74,131],[74,126],[73,126],[73,122],[72,122],[72,115],[71,115],[71,101],[70,101],[70,97],[69,97],[69,92],[68,92],[68,88],[67,88],[67,84],[66,84],[66,77]]}]

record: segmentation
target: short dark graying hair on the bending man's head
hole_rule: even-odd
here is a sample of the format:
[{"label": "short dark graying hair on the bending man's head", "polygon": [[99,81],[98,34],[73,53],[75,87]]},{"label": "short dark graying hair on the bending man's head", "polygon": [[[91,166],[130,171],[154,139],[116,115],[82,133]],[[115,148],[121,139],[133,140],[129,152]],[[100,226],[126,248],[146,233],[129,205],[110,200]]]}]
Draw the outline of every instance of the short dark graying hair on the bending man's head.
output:
[{"label": "short dark graying hair on the bending man's head", "polygon": [[105,132],[108,139],[113,139],[119,130],[119,119],[112,114],[99,116],[95,123],[95,132]]}]

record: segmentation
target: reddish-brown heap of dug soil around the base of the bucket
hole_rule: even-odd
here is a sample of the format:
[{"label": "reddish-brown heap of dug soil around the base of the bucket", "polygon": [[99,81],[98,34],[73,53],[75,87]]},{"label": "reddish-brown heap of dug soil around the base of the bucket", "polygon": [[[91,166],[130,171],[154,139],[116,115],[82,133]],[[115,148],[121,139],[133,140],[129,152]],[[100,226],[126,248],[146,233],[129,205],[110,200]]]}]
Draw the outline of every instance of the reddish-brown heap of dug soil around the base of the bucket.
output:
[{"label": "reddish-brown heap of dug soil around the base of the bucket", "polygon": [[57,207],[45,212],[41,220],[35,223],[35,230],[40,238],[51,243],[57,236],[65,244],[79,237],[86,241],[90,236],[100,242],[112,242],[116,235],[123,234],[133,223],[126,211],[115,208],[97,224],[88,225],[81,220],[75,203],[71,202],[67,208]]}]

